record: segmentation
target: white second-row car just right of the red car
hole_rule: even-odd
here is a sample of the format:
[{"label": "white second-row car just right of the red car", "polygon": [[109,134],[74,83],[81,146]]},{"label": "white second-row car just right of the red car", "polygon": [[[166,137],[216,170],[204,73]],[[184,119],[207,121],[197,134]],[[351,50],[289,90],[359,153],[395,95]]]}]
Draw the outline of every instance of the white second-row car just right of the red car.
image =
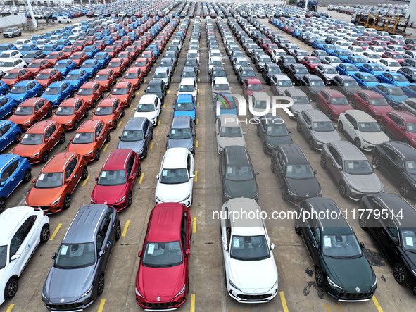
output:
[{"label": "white second-row car just right of the red car", "polygon": [[156,204],[174,202],[191,206],[194,177],[192,153],[184,147],[168,149],[156,175]]}]

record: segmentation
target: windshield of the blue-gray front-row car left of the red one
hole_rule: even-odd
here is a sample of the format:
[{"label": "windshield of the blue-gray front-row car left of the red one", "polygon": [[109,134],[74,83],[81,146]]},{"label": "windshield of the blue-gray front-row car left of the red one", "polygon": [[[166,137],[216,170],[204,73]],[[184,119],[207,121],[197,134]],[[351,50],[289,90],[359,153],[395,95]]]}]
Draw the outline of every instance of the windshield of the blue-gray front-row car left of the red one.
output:
[{"label": "windshield of the blue-gray front-row car left of the red one", "polygon": [[[98,239],[98,238],[97,238]],[[71,269],[92,266],[95,263],[94,242],[84,244],[61,244],[54,266]]]}]

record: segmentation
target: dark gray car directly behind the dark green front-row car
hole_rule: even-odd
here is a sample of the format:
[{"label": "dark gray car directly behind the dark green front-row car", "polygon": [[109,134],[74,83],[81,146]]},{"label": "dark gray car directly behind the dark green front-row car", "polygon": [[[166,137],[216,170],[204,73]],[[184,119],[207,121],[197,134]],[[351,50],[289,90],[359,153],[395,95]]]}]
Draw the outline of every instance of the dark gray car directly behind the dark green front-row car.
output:
[{"label": "dark gray car directly behind the dark green front-row car", "polygon": [[322,196],[316,171],[302,149],[295,144],[280,145],[272,153],[271,167],[282,187],[282,199],[298,204],[303,199]]}]

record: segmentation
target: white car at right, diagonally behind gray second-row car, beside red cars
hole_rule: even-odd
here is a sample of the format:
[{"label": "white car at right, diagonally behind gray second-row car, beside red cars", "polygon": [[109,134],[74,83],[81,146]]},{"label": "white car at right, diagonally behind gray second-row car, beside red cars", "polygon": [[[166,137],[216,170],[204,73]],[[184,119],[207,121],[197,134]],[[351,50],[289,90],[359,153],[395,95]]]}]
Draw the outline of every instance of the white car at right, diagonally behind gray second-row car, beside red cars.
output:
[{"label": "white car at right, diagonally behind gray second-row car, beside red cars", "polygon": [[377,120],[357,109],[348,109],[339,114],[338,130],[363,151],[372,151],[376,144],[390,141]]}]

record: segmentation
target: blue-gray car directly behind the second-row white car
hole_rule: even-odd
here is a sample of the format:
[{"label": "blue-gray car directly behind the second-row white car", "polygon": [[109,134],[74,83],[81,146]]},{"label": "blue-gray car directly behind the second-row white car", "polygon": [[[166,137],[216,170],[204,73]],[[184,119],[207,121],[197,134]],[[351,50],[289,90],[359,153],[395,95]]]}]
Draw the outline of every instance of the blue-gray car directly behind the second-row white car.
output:
[{"label": "blue-gray car directly behind the second-row white car", "polygon": [[195,123],[190,116],[175,116],[167,135],[166,149],[184,147],[195,155]]}]

